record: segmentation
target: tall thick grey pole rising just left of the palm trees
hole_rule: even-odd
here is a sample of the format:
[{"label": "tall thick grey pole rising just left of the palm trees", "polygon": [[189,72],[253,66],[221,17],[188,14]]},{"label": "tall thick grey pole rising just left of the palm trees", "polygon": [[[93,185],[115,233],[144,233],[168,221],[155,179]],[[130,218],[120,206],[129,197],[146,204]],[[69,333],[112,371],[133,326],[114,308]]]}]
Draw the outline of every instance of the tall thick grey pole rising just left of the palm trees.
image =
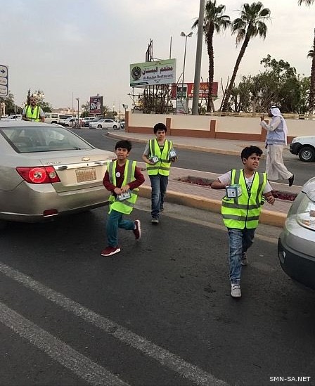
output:
[{"label": "tall thick grey pole rising just left of the palm trees", "polygon": [[[193,81],[193,115],[198,115],[201,57],[203,56],[203,20],[205,18],[205,0],[200,0],[198,18],[197,49],[195,52],[195,78]],[[212,87],[212,84],[209,85]]]}]

